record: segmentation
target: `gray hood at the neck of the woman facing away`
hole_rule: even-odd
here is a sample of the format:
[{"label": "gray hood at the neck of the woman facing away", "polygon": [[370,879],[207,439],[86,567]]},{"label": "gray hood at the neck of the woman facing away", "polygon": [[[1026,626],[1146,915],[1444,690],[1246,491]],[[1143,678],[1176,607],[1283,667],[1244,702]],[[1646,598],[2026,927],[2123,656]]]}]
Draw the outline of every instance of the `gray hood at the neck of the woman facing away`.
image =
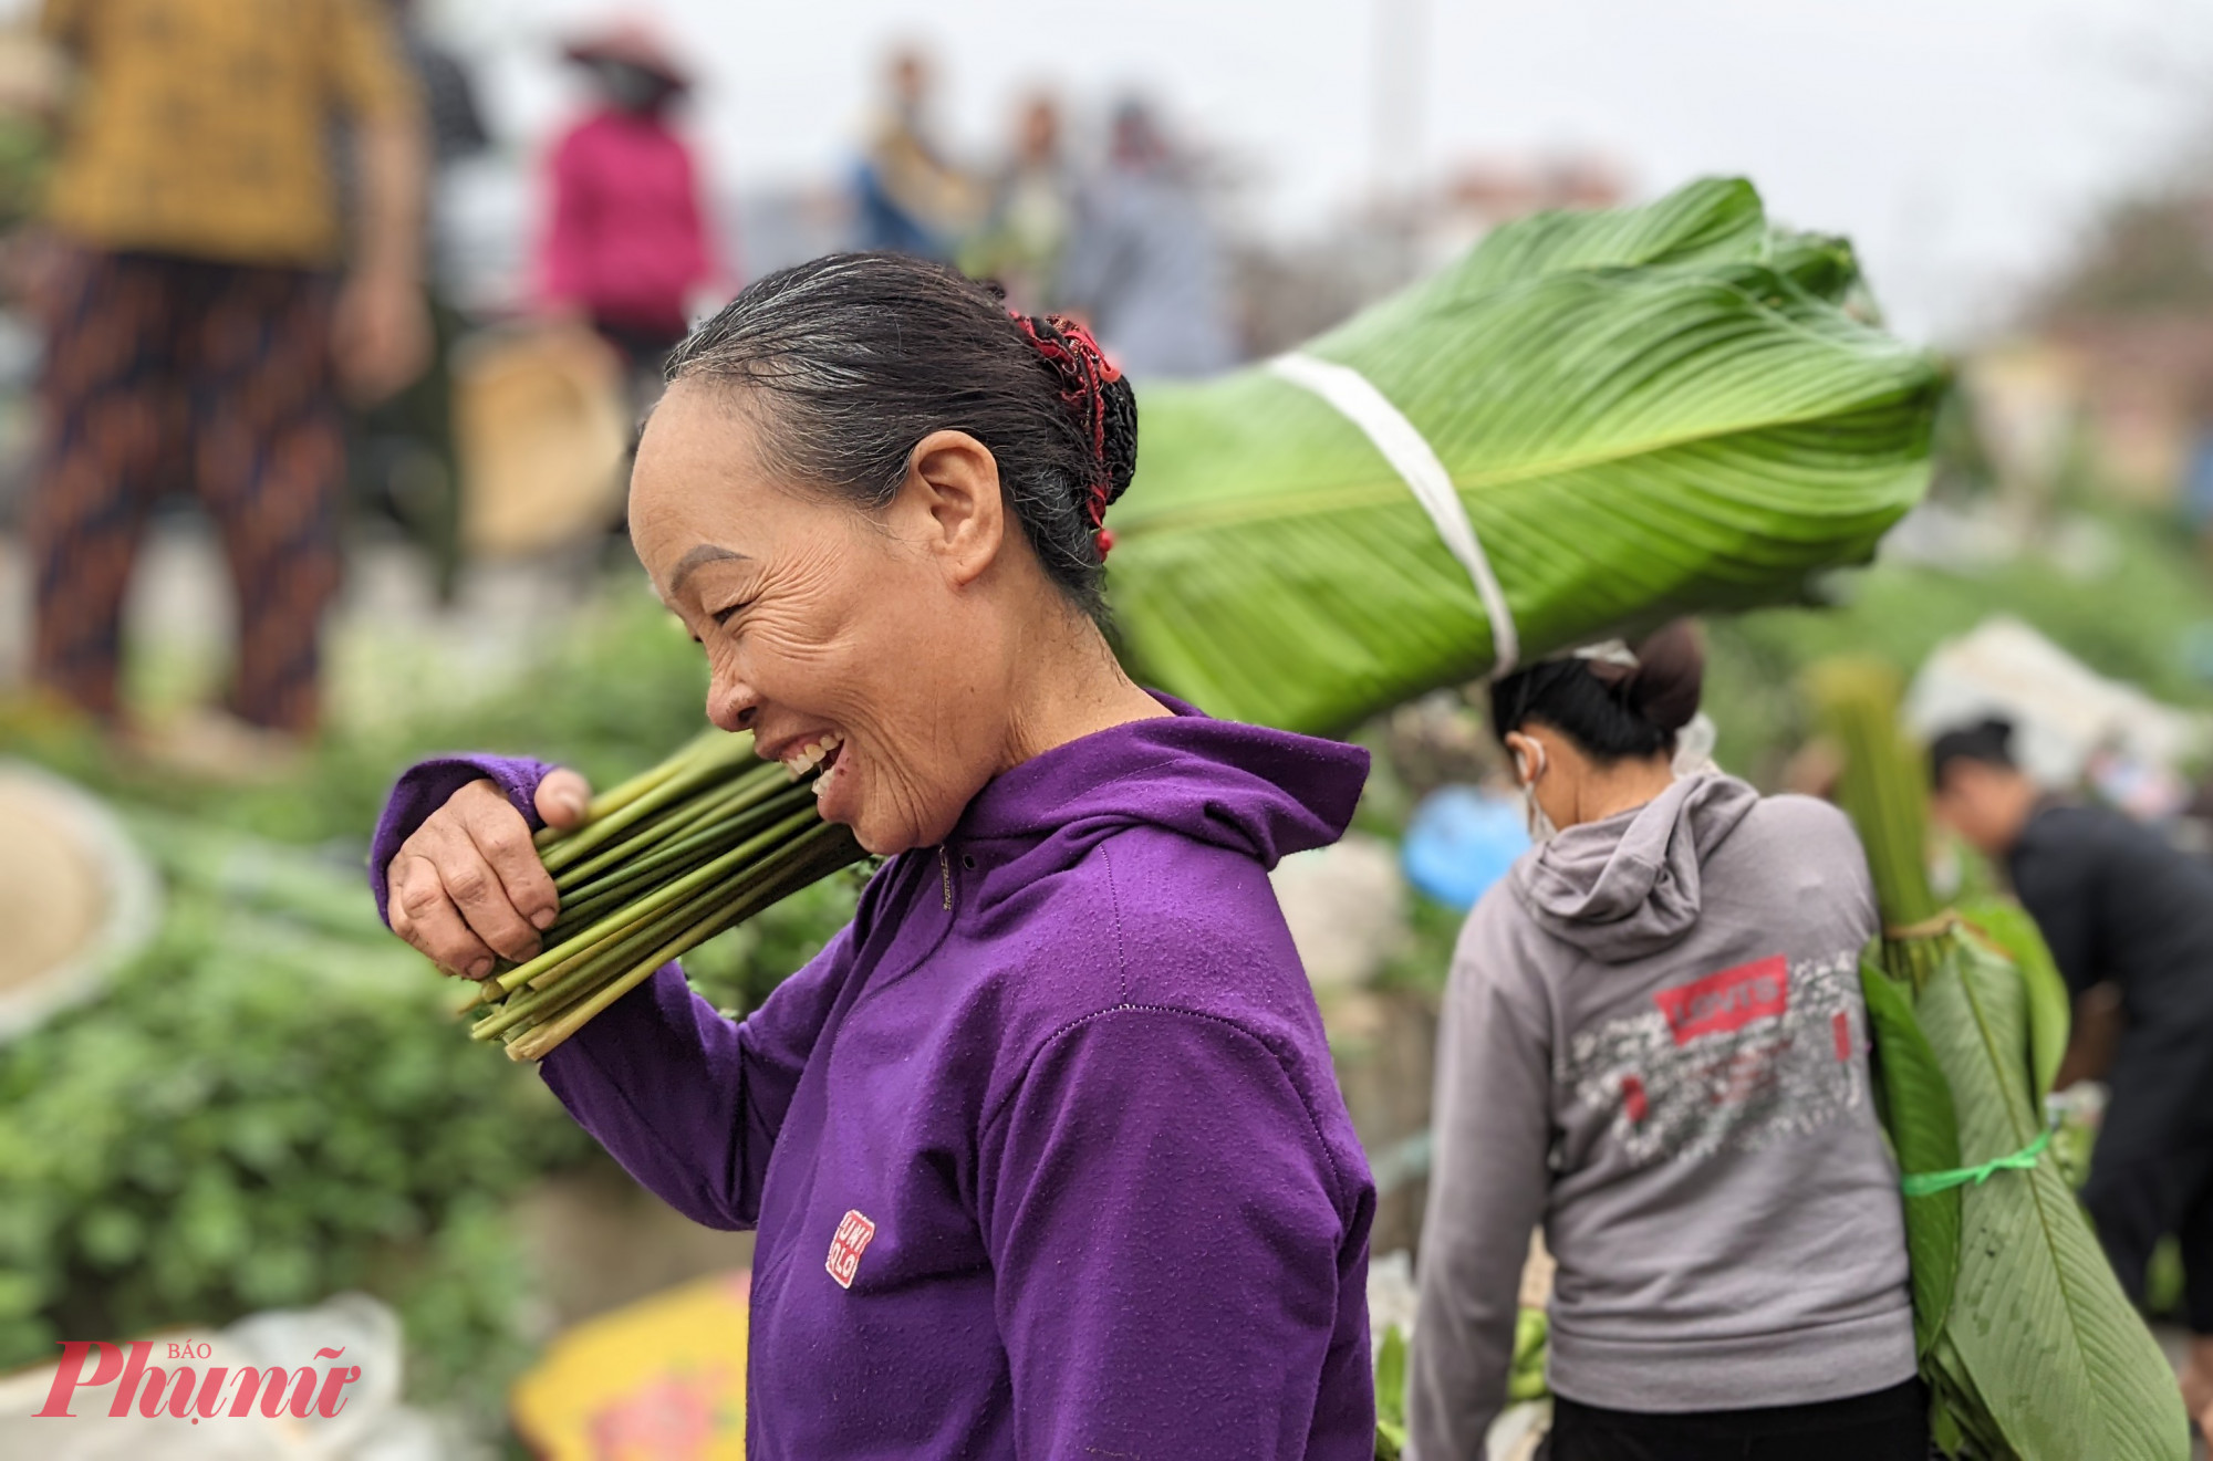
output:
[{"label": "gray hood at the neck of the woman facing away", "polygon": [[1554,837],[1514,870],[1516,890],[1538,928],[1600,963],[1658,954],[1697,923],[1700,866],[1757,804],[1735,777],[1682,777]]}]

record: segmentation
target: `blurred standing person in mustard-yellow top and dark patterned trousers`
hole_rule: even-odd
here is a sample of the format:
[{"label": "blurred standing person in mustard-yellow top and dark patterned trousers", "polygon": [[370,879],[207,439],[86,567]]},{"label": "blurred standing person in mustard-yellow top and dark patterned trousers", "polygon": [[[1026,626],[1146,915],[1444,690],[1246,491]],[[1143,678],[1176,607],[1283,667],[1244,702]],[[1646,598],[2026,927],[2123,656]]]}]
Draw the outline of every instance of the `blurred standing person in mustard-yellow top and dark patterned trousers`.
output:
[{"label": "blurred standing person in mustard-yellow top and dark patterned trousers", "polygon": [[[308,735],[339,584],[341,390],[389,396],[429,348],[425,142],[389,15],[378,0],[46,0],[40,29],[77,84],[49,197],[62,263],[40,301],[33,677],[120,719],[131,562],[148,509],[188,491],[237,589],[228,711]],[[325,155],[341,113],[352,250]]]}]

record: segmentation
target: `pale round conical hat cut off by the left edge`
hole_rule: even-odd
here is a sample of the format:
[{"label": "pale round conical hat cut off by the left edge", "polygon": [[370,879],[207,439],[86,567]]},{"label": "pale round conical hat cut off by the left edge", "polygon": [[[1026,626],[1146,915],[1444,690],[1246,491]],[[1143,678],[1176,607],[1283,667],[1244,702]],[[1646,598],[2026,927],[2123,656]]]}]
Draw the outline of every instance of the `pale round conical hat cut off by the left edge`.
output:
[{"label": "pale round conical hat cut off by the left edge", "polygon": [[0,1040],[97,994],[153,934],[157,888],[100,799],[0,761]]}]

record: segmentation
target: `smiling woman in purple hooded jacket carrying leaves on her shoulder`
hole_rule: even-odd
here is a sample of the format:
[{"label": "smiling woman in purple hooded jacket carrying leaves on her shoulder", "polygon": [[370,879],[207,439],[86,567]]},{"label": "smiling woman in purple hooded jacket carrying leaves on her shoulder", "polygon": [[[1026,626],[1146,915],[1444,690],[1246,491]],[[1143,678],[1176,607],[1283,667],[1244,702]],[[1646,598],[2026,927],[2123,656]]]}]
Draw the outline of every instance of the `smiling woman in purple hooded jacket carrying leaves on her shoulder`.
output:
[{"label": "smiling woman in purple hooded jacket carrying leaves on her shoulder", "polygon": [[[1268,868],[1343,832],[1368,761],[1115,664],[1129,385],[887,255],[761,279],[671,381],[631,531],[708,715],[823,759],[823,817],[890,857],[744,1023],[671,965],[542,1067],[640,1182],[759,1229],[746,1454],[1365,1461],[1374,1189]],[[582,801],[409,770],[394,930],[527,959],[524,828]]]}]

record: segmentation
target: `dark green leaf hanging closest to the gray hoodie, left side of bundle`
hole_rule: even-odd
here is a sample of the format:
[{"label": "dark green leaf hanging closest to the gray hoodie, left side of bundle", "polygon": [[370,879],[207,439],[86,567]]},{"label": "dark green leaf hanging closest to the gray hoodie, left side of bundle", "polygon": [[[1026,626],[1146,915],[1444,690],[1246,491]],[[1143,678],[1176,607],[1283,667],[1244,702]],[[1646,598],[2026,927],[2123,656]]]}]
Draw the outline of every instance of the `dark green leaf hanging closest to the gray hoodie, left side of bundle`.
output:
[{"label": "dark green leaf hanging closest to the gray hoodie, left side of bundle", "polygon": [[[1883,1085],[1883,1113],[1899,1171],[1959,1167],[1959,1116],[1936,1051],[1914,1020],[1912,1001],[1874,963],[1859,965],[1874,1036],[1874,1076]],[[1905,1204],[1905,1251],[1914,1275],[1914,1353],[1928,1355],[1952,1313],[1959,1277],[1961,1193],[1947,1189]]]}]

